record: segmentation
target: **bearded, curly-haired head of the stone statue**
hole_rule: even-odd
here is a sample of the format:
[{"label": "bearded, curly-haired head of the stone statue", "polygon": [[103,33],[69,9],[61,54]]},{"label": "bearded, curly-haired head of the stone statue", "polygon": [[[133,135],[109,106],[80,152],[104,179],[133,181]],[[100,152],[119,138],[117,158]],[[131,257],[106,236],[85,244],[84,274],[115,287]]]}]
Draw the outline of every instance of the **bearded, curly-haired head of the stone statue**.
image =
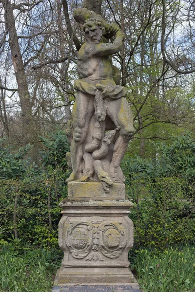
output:
[{"label": "bearded, curly-haired head of the stone statue", "polygon": [[102,40],[102,36],[105,30],[104,23],[101,17],[89,18],[83,25],[83,31],[85,32],[87,41],[99,43]]}]

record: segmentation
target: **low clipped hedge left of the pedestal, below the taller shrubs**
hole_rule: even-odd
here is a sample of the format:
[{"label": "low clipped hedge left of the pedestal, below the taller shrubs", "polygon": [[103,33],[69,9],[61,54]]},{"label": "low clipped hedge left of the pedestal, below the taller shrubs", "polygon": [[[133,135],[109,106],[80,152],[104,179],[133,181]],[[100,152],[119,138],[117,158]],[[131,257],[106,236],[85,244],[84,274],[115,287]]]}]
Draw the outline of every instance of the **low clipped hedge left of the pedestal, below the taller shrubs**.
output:
[{"label": "low clipped hedge left of the pedestal, below the taller shrubs", "polygon": [[[26,242],[35,245],[47,246],[48,240],[51,244],[58,244],[57,229],[60,209],[56,201],[55,182],[46,175],[26,178],[23,181],[4,181],[1,185],[0,209],[1,223],[0,237],[11,237],[13,232],[13,210],[15,195],[18,192],[17,225],[18,236]],[[48,218],[48,192],[50,192],[50,208],[52,213],[52,229],[49,232]]]}]

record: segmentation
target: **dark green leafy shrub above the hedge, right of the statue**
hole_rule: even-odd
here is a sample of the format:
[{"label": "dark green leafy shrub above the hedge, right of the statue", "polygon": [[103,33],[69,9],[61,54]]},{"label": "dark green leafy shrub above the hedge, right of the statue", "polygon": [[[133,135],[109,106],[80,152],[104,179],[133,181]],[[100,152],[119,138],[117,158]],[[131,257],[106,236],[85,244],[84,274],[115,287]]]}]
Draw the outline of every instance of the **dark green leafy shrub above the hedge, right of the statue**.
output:
[{"label": "dark green leafy shrub above the hedge, right of the statue", "polygon": [[195,177],[195,140],[193,133],[170,137],[169,144],[153,143],[156,148],[155,159],[139,156],[124,161],[126,175],[139,176],[180,176],[186,179]]}]

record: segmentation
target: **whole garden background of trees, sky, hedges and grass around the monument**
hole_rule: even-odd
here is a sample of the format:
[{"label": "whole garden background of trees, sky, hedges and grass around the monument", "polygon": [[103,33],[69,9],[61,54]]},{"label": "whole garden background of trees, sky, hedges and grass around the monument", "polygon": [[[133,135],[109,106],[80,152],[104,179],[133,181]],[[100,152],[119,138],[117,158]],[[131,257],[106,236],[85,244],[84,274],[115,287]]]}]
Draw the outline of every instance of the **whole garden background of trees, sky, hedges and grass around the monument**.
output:
[{"label": "whole garden background of trees, sky, hedges and grass around the monument", "polygon": [[60,265],[82,6],[126,35],[113,63],[136,129],[122,163],[131,268],[145,292],[195,291],[192,0],[0,0],[0,291],[50,291]]}]

